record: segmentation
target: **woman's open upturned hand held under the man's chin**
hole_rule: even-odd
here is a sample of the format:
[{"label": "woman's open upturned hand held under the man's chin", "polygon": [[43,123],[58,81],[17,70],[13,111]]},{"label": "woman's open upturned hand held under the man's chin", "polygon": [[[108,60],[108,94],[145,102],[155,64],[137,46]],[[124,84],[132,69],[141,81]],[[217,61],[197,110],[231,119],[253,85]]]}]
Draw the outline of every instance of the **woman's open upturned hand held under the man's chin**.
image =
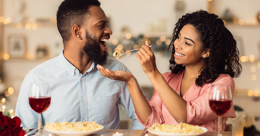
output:
[{"label": "woman's open upturned hand held under the man's chin", "polygon": [[100,73],[113,80],[119,80],[119,81],[124,81],[124,82],[129,82],[131,79],[135,79],[133,74],[122,71],[122,70],[117,70],[117,71],[110,71],[109,69],[105,69],[101,65],[97,65],[97,68],[99,69]]}]

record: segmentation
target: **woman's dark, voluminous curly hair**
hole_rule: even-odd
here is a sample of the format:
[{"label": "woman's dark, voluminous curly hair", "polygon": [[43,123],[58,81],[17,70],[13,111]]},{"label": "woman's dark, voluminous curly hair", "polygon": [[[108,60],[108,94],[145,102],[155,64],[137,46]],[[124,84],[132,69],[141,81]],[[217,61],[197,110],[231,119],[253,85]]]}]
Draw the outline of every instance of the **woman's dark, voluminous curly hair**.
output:
[{"label": "woman's dark, voluminous curly hair", "polygon": [[209,57],[205,58],[203,68],[198,71],[200,75],[196,79],[196,85],[202,86],[205,83],[212,83],[218,78],[219,74],[228,74],[232,78],[240,75],[242,67],[239,63],[239,50],[236,46],[236,40],[224,26],[222,19],[203,10],[186,14],[175,24],[173,38],[169,45],[169,49],[172,49],[169,68],[173,73],[178,73],[185,68],[184,65],[176,64],[174,61],[174,41],[186,24],[194,26],[199,34],[203,44],[201,51],[209,49]]}]

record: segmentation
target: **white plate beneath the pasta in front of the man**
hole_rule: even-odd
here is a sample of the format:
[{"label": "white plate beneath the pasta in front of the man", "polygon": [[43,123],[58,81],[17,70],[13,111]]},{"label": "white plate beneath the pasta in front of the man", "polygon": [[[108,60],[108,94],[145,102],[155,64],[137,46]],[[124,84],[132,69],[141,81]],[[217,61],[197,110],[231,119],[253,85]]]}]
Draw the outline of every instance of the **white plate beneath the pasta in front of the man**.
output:
[{"label": "white plate beneath the pasta in front of the man", "polygon": [[104,127],[102,126],[102,128],[100,129],[96,129],[96,130],[91,130],[91,131],[54,131],[54,130],[48,130],[46,128],[44,128],[46,131],[52,133],[52,134],[57,134],[60,136],[88,136],[90,134],[99,132],[100,130],[102,130]]}]

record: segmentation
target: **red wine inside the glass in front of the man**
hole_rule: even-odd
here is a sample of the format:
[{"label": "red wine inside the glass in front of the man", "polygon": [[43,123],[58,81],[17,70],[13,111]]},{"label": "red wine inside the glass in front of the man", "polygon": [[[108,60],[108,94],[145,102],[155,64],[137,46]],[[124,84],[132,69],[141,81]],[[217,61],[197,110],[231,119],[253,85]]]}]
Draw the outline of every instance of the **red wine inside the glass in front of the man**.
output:
[{"label": "red wine inside the glass in front of the man", "polygon": [[29,97],[29,103],[34,111],[41,114],[42,112],[48,109],[51,103],[51,97],[48,96],[40,96],[39,98]]}]

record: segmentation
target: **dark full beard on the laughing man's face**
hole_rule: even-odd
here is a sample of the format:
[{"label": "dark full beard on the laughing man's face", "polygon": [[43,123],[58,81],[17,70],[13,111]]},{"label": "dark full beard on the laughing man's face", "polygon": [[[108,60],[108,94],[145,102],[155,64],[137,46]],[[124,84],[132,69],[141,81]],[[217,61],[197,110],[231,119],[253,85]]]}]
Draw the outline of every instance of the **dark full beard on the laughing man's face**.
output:
[{"label": "dark full beard on the laughing man's face", "polygon": [[97,39],[93,38],[88,32],[86,32],[86,43],[83,50],[87,54],[90,60],[95,64],[105,65],[107,58],[107,51],[104,51],[104,55],[101,55],[100,43]]}]

